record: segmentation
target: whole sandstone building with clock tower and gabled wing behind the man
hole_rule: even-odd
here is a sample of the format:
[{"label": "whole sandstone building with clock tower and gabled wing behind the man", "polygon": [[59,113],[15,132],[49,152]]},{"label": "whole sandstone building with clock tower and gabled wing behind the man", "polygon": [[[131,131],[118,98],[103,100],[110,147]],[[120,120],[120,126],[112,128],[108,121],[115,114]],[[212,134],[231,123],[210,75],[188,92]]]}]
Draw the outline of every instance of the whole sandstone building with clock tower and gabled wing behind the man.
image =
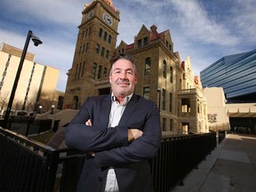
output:
[{"label": "whole sandstone building with clock tower and gabled wing behind the man", "polygon": [[190,60],[173,52],[170,30],[142,25],[134,42],[116,47],[120,12],[111,0],[85,5],[78,26],[76,52],[68,71],[64,108],[78,109],[88,96],[110,92],[110,59],[118,52],[132,54],[140,77],[135,93],[156,101],[161,124],[167,133],[208,132],[206,100],[200,78]]}]

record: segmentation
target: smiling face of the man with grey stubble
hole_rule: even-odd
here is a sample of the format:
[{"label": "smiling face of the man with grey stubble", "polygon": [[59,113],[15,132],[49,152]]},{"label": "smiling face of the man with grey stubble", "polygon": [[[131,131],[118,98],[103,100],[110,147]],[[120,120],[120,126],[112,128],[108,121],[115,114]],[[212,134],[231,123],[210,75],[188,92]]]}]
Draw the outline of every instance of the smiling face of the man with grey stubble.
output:
[{"label": "smiling face of the man with grey stubble", "polygon": [[109,76],[112,92],[118,96],[127,96],[132,94],[135,85],[138,82],[138,77],[132,62],[129,60],[117,60],[112,68],[112,74]]}]

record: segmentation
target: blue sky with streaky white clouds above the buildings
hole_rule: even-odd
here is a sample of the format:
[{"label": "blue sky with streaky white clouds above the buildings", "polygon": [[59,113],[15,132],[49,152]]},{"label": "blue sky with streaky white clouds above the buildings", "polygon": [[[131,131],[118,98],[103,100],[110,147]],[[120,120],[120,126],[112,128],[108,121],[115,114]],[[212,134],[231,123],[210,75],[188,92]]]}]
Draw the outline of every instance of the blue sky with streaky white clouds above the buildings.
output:
[{"label": "blue sky with streaky white clouds above the buildings", "polygon": [[[35,61],[60,69],[57,90],[65,91],[77,26],[92,0],[1,0],[0,44],[23,49],[28,30],[44,42],[28,52]],[[132,44],[142,24],[170,29],[174,52],[190,57],[195,75],[229,54],[256,49],[255,0],[113,0],[120,10],[117,44]]]}]

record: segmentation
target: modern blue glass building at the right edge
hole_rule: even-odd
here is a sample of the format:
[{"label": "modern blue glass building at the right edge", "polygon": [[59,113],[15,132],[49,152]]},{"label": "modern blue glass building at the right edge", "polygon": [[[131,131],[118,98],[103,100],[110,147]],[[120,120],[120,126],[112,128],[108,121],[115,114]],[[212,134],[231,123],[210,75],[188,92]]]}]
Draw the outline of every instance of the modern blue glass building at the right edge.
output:
[{"label": "modern blue glass building at the right edge", "polygon": [[256,102],[256,50],[225,56],[200,77],[203,87],[223,87],[228,102]]}]

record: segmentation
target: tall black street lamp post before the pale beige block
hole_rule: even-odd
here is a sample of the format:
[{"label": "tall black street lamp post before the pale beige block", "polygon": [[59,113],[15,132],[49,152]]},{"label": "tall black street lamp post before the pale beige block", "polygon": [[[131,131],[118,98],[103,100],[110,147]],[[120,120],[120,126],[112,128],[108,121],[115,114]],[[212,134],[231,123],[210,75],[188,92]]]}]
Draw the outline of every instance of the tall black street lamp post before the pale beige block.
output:
[{"label": "tall black street lamp post before the pale beige block", "polygon": [[14,80],[14,83],[13,83],[13,86],[12,86],[11,96],[10,96],[8,106],[7,106],[5,115],[4,115],[4,122],[2,124],[2,126],[4,128],[6,128],[6,125],[8,123],[8,119],[9,119],[10,112],[11,112],[11,109],[12,109],[12,102],[14,100],[15,92],[16,92],[17,85],[18,85],[18,82],[19,82],[19,79],[20,79],[20,72],[21,72],[25,57],[26,57],[26,53],[28,51],[28,44],[29,44],[30,38],[32,38],[32,41],[34,42],[35,46],[38,46],[38,44],[43,44],[43,42],[37,36],[34,36],[34,34],[31,30],[28,30],[27,40],[26,40],[26,43],[24,45],[23,52],[21,54],[19,68],[18,68],[17,74],[15,76],[15,80]]}]

